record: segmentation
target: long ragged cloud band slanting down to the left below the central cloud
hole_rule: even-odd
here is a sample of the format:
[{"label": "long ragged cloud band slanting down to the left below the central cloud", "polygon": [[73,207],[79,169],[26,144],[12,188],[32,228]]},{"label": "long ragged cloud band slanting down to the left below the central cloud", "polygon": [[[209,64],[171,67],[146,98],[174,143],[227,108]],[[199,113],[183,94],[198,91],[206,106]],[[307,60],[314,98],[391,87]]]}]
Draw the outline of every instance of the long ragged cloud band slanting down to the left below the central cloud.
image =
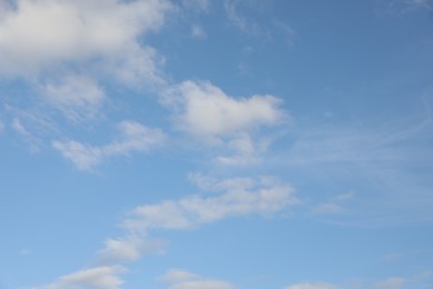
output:
[{"label": "long ragged cloud band slanting down to the left below the central cloud", "polygon": [[191,229],[230,217],[274,215],[299,203],[289,185],[270,177],[218,180],[197,173],[191,179],[213,193],[137,207],[123,220],[127,233],[105,241],[105,248],[99,251],[100,261],[134,261],[144,253],[162,251],[165,243],[151,239],[152,230]]}]

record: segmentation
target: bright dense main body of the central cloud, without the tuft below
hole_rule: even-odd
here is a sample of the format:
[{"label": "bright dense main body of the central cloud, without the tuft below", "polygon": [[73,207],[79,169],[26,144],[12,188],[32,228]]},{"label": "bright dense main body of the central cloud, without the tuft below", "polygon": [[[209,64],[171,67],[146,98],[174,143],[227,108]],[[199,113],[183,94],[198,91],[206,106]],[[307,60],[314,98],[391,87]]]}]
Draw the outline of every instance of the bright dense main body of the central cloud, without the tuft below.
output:
[{"label": "bright dense main body of the central cloud, without the tuft below", "polygon": [[200,137],[222,137],[260,126],[281,123],[282,100],[272,96],[232,98],[209,82],[184,81],[169,91],[164,103],[174,109],[180,129]]}]

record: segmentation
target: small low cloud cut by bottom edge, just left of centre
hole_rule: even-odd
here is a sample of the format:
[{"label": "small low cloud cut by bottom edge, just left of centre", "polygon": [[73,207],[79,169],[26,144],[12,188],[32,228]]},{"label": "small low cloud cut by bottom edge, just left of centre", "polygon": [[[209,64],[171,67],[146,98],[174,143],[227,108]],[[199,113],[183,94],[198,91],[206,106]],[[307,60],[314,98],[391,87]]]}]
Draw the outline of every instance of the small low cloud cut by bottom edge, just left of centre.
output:
[{"label": "small low cloud cut by bottom edge, just left of centre", "polygon": [[226,281],[203,278],[184,270],[170,269],[160,277],[167,282],[169,289],[233,289],[234,286]]}]

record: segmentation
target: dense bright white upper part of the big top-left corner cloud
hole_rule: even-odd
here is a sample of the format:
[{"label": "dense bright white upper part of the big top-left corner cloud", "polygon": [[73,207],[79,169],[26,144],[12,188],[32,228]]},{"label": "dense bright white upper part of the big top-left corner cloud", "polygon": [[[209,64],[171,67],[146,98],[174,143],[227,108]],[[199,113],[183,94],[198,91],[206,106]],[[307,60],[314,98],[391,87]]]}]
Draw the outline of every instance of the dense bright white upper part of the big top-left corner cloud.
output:
[{"label": "dense bright white upper part of the big top-left corner cloud", "polygon": [[63,61],[124,58],[137,38],[158,29],[165,0],[17,0],[2,4],[0,71],[27,76]]}]

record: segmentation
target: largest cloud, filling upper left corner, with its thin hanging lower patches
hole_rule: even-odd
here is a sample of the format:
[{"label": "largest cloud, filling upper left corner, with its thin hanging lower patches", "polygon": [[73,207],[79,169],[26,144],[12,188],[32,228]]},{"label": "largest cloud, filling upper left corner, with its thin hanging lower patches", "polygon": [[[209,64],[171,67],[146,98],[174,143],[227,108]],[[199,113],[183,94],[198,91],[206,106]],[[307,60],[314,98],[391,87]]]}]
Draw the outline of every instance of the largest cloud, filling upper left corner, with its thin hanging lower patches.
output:
[{"label": "largest cloud, filling upper left corner, with its thin hanging lower patches", "polygon": [[0,2],[0,76],[29,80],[73,122],[98,114],[103,81],[164,83],[163,58],[143,37],[164,23],[169,0]]}]

